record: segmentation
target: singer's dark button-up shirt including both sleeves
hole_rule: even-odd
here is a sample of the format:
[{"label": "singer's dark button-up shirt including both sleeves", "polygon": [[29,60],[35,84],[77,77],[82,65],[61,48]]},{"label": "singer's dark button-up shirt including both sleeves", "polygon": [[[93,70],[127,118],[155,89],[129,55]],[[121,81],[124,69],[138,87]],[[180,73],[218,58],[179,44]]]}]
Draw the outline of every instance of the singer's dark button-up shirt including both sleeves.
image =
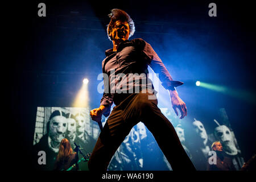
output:
[{"label": "singer's dark button-up shirt including both sleeves", "polygon": [[[115,105],[119,103],[117,94],[120,92],[122,94],[136,93],[138,90],[136,91],[134,88],[139,88],[139,90],[142,88],[154,89],[152,81],[147,78],[148,65],[158,74],[165,89],[173,89],[175,86],[183,84],[172,80],[162,60],[150,44],[143,39],[126,40],[119,44],[117,51],[113,51],[112,48],[106,50],[105,54],[106,58],[102,61],[102,72],[108,77],[104,78],[105,89],[101,98],[101,105],[108,108],[104,113],[106,117],[110,113],[113,101]],[[134,75],[135,73],[138,75]]]}]

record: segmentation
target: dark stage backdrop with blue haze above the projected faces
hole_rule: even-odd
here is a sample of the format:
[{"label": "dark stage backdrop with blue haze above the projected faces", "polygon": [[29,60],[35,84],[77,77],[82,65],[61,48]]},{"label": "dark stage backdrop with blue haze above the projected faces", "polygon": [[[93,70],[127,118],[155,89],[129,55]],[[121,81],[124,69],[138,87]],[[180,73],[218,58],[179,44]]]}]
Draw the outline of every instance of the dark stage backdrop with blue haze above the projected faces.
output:
[{"label": "dark stage backdrop with blue haze above the projected faces", "polygon": [[[46,3],[46,17],[38,17],[40,2]],[[217,17],[208,16],[211,2]],[[185,82],[177,89],[189,109],[183,122],[197,118],[209,131],[224,107],[245,161],[254,154],[255,16],[249,2],[22,1],[5,7],[12,12],[5,27],[10,33],[11,139],[17,141],[15,154],[24,168],[31,167],[37,106],[71,106],[84,77],[90,80],[90,106],[100,104],[97,75],[104,51],[112,47],[105,30],[113,8],[133,18],[131,39],[150,43],[171,75]],[[247,101],[196,87],[197,80],[251,96]]]}]

